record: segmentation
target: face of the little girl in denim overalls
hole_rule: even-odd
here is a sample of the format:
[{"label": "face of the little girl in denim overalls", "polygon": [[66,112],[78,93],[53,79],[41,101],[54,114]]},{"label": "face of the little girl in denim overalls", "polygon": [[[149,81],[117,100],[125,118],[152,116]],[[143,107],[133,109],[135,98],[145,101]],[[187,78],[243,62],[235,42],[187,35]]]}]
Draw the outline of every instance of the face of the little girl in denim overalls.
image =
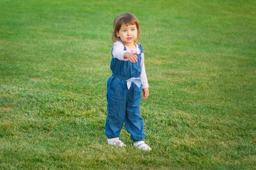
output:
[{"label": "face of the little girl in denim overalls", "polygon": [[127,46],[133,46],[134,41],[137,39],[137,26],[136,25],[128,25],[122,24],[119,31],[116,31],[117,37],[120,37],[122,42]]}]

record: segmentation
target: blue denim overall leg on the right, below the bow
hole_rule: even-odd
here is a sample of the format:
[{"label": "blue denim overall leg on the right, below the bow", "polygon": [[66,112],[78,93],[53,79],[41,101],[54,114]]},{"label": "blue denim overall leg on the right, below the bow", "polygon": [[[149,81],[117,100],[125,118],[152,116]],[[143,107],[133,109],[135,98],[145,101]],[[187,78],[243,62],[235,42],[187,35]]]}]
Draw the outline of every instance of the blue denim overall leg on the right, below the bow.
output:
[{"label": "blue denim overall leg on the right, below the bow", "polygon": [[141,90],[142,85],[138,88],[132,83],[127,97],[125,127],[131,133],[133,142],[143,141],[146,136],[143,133],[143,118],[140,116]]}]

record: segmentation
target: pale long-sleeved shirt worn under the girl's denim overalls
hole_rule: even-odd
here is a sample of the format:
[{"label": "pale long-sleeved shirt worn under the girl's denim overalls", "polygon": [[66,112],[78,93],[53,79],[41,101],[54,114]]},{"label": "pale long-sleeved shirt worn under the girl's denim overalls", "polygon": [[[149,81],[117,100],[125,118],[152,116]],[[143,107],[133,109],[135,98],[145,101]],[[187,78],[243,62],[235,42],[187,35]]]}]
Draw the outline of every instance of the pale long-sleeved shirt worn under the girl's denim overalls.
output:
[{"label": "pale long-sleeved shirt worn under the girl's denim overalls", "polygon": [[[137,54],[140,54],[140,49],[138,45],[137,44],[135,45],[136,45],[135,49],[126,47],[127,51],[124,51],[123,44],[121,42],[115,42],[113,45],[113,52],[112,52],[113,57],[122,61],[127,61],[128,59],[124,59],[125,52],[130,52],[130,53],[137,52]],[[144,53],[141,54],[140,66],[141,66],[140,80],[143,85],[143,88],[149,88],[148,79],[147,79],[146,70],[145,70],[145,64],[144,64]]]}]

